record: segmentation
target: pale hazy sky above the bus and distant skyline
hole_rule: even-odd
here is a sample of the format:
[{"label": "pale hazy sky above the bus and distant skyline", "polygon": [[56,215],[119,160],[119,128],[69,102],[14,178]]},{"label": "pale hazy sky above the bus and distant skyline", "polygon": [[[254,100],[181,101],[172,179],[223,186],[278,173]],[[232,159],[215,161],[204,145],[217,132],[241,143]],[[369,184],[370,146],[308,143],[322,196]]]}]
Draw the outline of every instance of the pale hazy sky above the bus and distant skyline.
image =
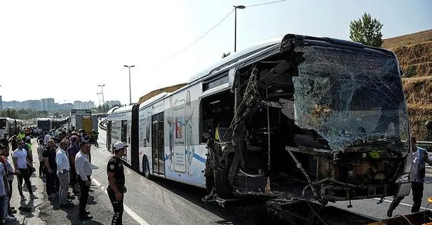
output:
[{"label": "pale hazy sky above the bus and distant skyline", "polygon": [[[287,0],[0,1],[0,95],[4,101],[129,103],[184,83],[237,50],[285,34],[349,40],[349,22],[380,20],[384,38],[432,29],[432,1]],[[251,6],[251,7],[248,7]],[[182,53],[210,28],[215,29]],[[172,57],[175,55],[174,57]],[[102,97],[102,96],[101,96]]]}]

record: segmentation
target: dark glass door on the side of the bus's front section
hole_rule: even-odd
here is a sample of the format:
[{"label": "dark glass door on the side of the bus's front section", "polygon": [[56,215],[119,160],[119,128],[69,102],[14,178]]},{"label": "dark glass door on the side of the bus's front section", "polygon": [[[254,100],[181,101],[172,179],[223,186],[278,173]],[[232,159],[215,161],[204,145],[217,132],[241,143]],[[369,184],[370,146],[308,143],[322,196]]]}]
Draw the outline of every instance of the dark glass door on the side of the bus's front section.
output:
[{"label": "dark glass door on the side of the bus's front section", "polygon": [[163,112],[151,116],[151,156],[153,172],[165,175],[165,157],[163,156]]}]

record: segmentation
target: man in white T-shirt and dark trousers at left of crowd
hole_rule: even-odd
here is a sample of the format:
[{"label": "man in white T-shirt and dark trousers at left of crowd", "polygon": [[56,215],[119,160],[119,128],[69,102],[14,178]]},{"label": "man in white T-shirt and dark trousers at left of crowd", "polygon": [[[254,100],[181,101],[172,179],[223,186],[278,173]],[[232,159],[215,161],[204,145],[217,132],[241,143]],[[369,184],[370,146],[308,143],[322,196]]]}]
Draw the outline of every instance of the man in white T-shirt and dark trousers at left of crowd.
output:
[{"label": "man in white T-shirt and dark trousers at left of crowd", "polygon": [[24,194],[22,193],[22,179],[27,184],[27,189],[30,193],[30,199],[36,199],[32,190],[32,182],[30,182],[30,172],[27,165],[32,165],[29,158],[27,158],[27,151],[24,149],[24,142],[22,139],[17,139],[18,149],[15,149],[12,154],[13,165],[15,166],[15,172],[18,174],[18,191],[20,191],[21,200],[25,200]]}]

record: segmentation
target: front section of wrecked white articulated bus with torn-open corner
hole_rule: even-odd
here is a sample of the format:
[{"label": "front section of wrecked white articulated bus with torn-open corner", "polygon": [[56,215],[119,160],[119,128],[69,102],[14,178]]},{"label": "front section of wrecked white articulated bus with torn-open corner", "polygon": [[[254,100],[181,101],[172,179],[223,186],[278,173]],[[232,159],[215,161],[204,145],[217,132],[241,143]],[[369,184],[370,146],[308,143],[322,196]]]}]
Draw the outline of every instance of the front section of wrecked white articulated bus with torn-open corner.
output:
[{"label": "front section of wrecked white articulated bus with torn-open corner", "polygon": [[390,50],[288,34],[130,110],[132,167],[206,188],[204,200],[325,205],[410,192],[407,106]]}]

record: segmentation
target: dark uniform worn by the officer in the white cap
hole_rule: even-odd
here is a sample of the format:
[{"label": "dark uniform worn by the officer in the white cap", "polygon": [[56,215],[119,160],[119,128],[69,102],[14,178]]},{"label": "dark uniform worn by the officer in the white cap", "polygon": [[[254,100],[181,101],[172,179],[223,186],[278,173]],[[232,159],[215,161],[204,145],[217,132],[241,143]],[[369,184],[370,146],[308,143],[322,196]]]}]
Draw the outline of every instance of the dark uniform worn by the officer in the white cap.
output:
[{"label": "dark uniform worn by the officer in the white cap", "polygon": [[108,185],[107,192],[109,200],[111,201],[112,207],[114,209],[114,217],[112,218],[112,224],[122,224],[123,217],[123,195],[125,191],[125,173],[123,169],[123,164],[120,158],[112,156],[107,164],[107,172],[114,172],[114,179],[116,180],[117,189],[121,193],[121,200],[116,200],[116,193],[113,191],[112,187]]}]

